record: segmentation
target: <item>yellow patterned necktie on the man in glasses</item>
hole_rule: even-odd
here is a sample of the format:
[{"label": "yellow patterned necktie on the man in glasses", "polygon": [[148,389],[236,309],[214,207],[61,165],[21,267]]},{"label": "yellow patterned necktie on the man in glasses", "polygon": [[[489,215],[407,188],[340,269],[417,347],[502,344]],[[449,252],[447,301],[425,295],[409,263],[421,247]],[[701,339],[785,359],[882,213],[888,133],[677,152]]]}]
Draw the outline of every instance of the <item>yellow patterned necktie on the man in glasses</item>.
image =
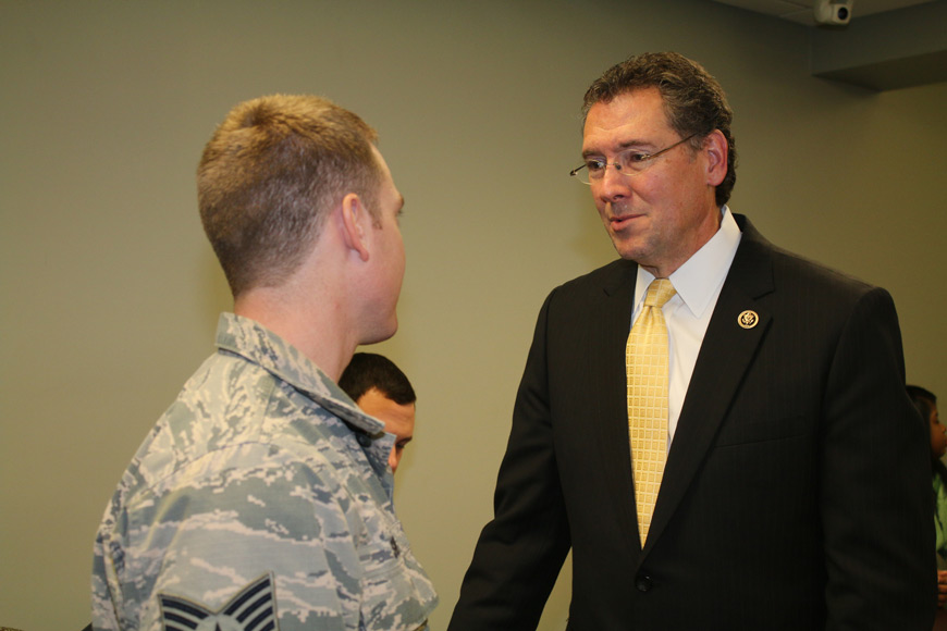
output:
[{"label": "yellow patterned necktie on the man in glasses", "polygon": [[652,281],[625,348],[628,435],[642,546],[667,460],[667,326],[661,308],[675,293],[667,279]]}]

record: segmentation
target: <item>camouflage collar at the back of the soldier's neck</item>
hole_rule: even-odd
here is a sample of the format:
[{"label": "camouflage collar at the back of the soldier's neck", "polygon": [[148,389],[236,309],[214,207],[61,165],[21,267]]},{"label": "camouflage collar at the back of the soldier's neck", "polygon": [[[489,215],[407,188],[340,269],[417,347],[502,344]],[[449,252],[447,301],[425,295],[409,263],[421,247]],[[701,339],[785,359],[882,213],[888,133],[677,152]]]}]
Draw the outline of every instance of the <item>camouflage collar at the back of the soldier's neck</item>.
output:
[{"label": "camouflage collar at the back of the soldier's neck", "polygon": [[384,423],[358,409],[355,401],[299,349],[259,322],[221,313],[217,347],[258,364],[359,430],[368,434],[384,431]]}]

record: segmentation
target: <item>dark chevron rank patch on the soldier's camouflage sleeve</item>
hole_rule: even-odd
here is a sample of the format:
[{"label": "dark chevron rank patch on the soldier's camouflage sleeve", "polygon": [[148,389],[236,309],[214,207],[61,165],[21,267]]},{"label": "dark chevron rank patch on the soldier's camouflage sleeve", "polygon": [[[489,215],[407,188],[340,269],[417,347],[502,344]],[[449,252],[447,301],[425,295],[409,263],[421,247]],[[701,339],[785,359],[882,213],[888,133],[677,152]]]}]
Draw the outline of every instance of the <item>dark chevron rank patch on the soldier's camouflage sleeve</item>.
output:
[{"label": "dark chevron rank patch on the soldier's camouflage sleeve", "polygon": [[276,589],[265,574],[213,611],[193,601],[158,594],[164,631],[279,631]]}]

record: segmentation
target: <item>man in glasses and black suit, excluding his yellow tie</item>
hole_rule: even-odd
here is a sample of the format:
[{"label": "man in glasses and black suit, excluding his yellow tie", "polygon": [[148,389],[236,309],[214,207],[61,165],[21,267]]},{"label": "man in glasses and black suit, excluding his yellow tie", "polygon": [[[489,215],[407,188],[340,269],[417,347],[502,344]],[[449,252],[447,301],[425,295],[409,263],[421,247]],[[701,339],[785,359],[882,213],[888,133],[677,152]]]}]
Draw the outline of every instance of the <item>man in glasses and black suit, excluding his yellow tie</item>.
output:
[{"label": "man in glasses and black suit, excluding his yellow tie", "polygon": [[[534,629],[569,548],[570,631],[931,629],[927,434],[890,296],[730,213],[733,114],[700,65],[631,58],[583,111],[573,174],[622,260],[540,311],[450,631]],[[667,446],[639,520],[626,338],[655,279]]]}]

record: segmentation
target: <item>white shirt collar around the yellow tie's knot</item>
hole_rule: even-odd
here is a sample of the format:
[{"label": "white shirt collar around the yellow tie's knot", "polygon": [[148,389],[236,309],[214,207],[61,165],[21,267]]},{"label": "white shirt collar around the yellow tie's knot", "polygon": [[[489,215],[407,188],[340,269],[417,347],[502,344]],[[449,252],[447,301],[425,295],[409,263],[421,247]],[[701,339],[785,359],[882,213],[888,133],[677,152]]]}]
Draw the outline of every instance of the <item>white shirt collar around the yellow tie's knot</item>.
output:
[{"label": "white shirt collar around the yellow tie's knot", "polygon": [[[723,285],[737,247],[740,245],[740,227],[730,209],[721,209],[721,227],[687,262],[671,274],[677,295],[690,312],[699,318],[708,309]],[[635,285],[635,305],[644,300],[648,285],[654,280],[651,272],[638,265],[638,282]]]}]

